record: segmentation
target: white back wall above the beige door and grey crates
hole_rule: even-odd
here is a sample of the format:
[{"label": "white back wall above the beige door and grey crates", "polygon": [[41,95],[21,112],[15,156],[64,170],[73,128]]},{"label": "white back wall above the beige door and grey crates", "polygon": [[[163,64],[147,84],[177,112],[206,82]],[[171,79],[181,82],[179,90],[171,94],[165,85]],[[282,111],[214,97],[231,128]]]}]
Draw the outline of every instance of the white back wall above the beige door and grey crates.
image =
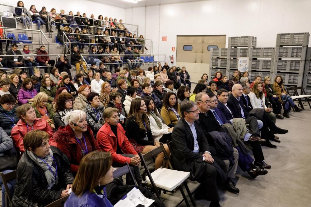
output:
[{"label": "white back wall above the beige door and grey crates", "polygon": [[225,34],[227,41],[231,36],[255,36],[257,47],[275,47],[277,33],[311,33],[310,8],[309,0],[208,0],[129,8],[125,20],[153,40],[152,53],[168,58],[176,57],[172,47],[177,35]]}]

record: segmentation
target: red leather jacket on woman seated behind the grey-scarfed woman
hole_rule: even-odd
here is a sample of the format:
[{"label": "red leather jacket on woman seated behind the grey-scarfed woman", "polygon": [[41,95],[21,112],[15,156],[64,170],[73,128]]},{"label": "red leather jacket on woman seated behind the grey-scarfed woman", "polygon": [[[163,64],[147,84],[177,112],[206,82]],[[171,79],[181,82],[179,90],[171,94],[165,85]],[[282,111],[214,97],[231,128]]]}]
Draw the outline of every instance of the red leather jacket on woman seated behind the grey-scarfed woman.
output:
[{"label": "red leather jacket on woman seated behind the grey-scarfed woman", "polygon": [[11,136],[13,139],[13,142],[16,146],[16,150],[20,152],[24,152],[24,137],[27,132],[31,130],[39,129],[44,132],[47,132],[50,137],[53,136],[53,129],[50,127],[49,123],[44,119],[36,118],[34,124],[32,127],[30,125],[27,125],[26,123],[20,119],[17,124],[12,128]]}]

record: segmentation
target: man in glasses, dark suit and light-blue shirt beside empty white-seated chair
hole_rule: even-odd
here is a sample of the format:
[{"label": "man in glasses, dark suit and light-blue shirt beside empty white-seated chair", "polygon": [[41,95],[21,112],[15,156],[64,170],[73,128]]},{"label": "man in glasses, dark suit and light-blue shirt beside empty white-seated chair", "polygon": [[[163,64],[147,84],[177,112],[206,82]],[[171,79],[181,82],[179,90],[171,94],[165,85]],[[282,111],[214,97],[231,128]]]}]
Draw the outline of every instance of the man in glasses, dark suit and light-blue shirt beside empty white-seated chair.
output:
[{"label": "man in glasses, dark suit and light-blue shirt beside empty white-seated chair", "polygon": [[[196,199],[211,200],[210,207],[220,206],[216,186],[217,170],[199,119],[199,111],[193,101],[184,101],[180,107],[182,119],[172,133],[173,165],[176,170],[191,172],[192,180],[200,182]],[[200,195],[201,194],[201,195]]]}]

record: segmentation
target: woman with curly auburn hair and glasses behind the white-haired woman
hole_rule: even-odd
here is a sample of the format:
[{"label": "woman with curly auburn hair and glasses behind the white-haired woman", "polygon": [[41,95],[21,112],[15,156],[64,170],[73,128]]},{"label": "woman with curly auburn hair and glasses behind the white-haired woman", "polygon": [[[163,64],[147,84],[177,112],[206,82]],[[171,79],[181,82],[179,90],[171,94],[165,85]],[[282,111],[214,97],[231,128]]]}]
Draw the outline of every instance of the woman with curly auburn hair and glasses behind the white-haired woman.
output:
[{"label": "woman with curly auburn hair and glasses behind the white-haired woman", "polygon": [[53,116],[53,123],[57,130],[65,125],[65,116],[68,112],[72,111],[73,96],[70,93],[61,93],[56,98],[56,114]]}]

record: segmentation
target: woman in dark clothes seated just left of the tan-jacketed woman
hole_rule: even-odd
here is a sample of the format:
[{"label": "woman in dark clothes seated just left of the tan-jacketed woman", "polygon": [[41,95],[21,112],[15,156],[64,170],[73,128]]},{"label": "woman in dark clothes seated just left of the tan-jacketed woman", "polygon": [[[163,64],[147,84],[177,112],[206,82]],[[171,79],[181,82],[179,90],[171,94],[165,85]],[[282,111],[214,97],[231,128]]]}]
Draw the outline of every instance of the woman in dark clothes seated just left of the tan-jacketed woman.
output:
[{"label": "woman in dark clothes seated just left of the tan-jacketed woman", "polygon": [[[281,101],[279,100],[279,97],[277,97],[276,92],[273,89],[273,84],[270,84],[270,81],[271,81],[270,77],[266,76],[263,80],[265,83],[264,88],[263,88],[263,92],[265,94],[265,101],[266,101],[266,103],[264,103],[264,104],[266,106],[268,106],[268,102],[270,102],[272,105],[273,113],[276,114],[276,118],[277,119],[284,119],[284,117],[281,115],[282,104],[281,104]],[[244,91],[244,85],[243,84],[242,84],[242,87],[243,87],[243,91]]]}]

